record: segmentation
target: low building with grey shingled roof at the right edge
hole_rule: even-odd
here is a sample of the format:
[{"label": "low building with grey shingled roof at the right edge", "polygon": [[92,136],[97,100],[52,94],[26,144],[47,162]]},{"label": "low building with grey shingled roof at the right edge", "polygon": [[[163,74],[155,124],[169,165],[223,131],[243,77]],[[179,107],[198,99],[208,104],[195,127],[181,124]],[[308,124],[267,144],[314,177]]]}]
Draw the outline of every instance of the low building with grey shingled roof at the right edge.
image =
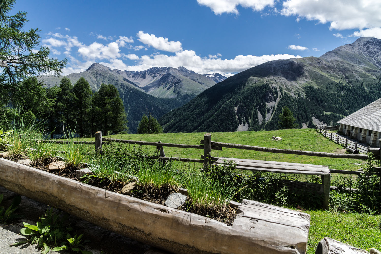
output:
[{"label": "low building with grey shingled roof at the right edge", "polygon": [[381,98],[338,121],[339,131],[359,142],[379,146],[381,138]]}]

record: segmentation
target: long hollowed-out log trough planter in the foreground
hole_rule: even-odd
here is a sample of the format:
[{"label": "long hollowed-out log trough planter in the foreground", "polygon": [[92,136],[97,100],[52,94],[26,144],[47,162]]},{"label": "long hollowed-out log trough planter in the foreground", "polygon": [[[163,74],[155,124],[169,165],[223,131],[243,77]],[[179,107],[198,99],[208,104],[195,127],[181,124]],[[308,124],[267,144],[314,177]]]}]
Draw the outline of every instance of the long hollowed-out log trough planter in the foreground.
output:
[{"label": "long hollowed-out log trough planter in the foreground", "polygon": [[232,226],[0,158],[0,185],[121,235],[174,253],[304,254],[309,214],[252,200]]}]

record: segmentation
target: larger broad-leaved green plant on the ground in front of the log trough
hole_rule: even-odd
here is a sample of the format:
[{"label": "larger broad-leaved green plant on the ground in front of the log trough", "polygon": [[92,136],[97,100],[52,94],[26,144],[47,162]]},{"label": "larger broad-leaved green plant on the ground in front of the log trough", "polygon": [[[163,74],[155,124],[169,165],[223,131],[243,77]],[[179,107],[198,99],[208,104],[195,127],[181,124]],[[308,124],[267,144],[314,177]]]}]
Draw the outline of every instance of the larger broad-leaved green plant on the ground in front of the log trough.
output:
[{"label": "larger broad-leaved green plant on the ground in front of the log trough", "polygon": [[[70,237],[71,227],[66,226],[66,220],[69,215],[62,216],[61,213],[55,213],[53,208],[48,208],[45,214],[42,216],[41,221],[36,225],[31,225],[26,222],[24,228],[21,228],[20,232],[26,236],[27,240],[18,241],[12,243],[11,246],[19,244],[30,243],[37,244],[38,248],[41,248],[42,254],[46,254],[49,251],[61,251],[63,249],[71,249],[72,251],[80,251],[82,254],[91,254],[90,251],[84,251],[78,247],[83,247],[80,243],[82,235],[74,238]],[[67,239],[69,238],[69,239]]]}]

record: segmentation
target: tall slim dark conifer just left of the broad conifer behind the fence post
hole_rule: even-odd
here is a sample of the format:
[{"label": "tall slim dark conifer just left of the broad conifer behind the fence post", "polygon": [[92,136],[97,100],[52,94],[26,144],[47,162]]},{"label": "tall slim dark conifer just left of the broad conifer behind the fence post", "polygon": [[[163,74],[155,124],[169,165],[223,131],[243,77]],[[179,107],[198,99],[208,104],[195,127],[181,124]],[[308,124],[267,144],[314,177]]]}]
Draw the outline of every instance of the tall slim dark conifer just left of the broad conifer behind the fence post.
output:
[{"label": "tall slim dark conifer just left of the broad conifer behind the fence post", "polygon": [[91,89],[89,82],[80,77],[73,87],[74,119],[77,122],[80,136],[85,136],[85,131],[90,132],[90,107],[91,107]]}]

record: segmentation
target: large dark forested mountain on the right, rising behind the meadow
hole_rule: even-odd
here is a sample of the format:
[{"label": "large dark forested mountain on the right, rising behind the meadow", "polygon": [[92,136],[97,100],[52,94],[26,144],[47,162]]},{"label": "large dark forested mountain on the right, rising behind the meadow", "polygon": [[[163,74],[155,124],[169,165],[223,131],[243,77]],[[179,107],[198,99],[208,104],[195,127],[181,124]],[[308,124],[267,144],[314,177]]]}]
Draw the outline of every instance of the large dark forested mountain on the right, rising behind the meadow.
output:
[{"label": "large dark forested mountain on the right, rising behind the meadow", "polygon": [[379,97],[381,40],[361,37],[319,58],[269,61],[237,73],[159,121],[165,132],[276,130],[287,106],[301,128],[335,125]]}]

